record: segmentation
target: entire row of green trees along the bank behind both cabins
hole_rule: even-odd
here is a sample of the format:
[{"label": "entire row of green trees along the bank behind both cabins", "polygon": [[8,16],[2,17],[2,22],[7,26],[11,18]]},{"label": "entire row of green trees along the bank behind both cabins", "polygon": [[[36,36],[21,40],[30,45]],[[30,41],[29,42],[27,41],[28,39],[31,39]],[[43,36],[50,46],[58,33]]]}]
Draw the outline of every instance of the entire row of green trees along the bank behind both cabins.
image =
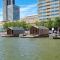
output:
[{"label": "entire row of green trees along the bank behind both cabins", "polygon": [[[52,27],[60,27],[60,17],[55,17],[54,20],[47,19],[47,21],[36,21],[35,25],[37,26],[45,26],[51,29]],[[5,22],[4,28],[8,27],[23,27],[24,29],[30,29],[31,24],[26,23],[25,21],[16,21],[16,22]]]}]

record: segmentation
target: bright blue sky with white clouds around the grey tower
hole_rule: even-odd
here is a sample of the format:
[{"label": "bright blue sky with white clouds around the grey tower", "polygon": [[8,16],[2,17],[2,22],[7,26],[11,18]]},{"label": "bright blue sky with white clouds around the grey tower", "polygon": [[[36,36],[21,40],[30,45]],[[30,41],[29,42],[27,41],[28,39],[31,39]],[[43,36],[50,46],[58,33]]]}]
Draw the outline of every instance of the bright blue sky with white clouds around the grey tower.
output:
[{"label": "bright blue sky with white clouds around the grey tower", "polygon": [[[37,0],[15,0],[20,7],[20,18],[37,14]],[[3,20],[3,0],[0,0],[0,21]]]}]

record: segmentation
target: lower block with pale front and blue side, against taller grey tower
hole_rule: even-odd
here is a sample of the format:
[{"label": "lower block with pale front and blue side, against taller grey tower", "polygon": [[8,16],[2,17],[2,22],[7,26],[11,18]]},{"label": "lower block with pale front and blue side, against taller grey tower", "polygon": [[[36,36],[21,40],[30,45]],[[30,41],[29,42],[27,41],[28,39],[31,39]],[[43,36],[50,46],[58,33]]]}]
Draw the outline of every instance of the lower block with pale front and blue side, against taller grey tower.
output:
[{"label": "lower block with pale front and blue side, against taller grey tower", "polygon": [[20,9],[16,5],[9,5],[8,6],[8,20],[9,21],[16,21],[20,19]]}]

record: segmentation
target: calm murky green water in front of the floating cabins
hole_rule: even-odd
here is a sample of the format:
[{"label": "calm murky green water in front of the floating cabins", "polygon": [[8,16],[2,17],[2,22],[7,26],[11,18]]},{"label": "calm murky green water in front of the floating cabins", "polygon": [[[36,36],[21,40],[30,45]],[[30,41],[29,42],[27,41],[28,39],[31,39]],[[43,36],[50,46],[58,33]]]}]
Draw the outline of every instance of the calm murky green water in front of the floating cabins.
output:
[{"label": "calm murky green water in front of the floating cabins", "polygon": [[60,40],[0,37],[0,60],[60,60]]}]

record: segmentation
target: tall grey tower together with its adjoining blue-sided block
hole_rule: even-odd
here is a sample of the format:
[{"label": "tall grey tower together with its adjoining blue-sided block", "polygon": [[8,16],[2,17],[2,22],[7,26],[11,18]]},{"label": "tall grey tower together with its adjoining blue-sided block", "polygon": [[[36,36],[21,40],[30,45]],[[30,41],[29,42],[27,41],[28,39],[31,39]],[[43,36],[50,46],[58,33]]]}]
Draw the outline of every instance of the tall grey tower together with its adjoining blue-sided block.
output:
[{"label": "tall grey tower together with its adjoining blue-sided block", "polygon": [[16,21],[20,19],[20,9],[15,0],[3,0],[3,20]]}]

